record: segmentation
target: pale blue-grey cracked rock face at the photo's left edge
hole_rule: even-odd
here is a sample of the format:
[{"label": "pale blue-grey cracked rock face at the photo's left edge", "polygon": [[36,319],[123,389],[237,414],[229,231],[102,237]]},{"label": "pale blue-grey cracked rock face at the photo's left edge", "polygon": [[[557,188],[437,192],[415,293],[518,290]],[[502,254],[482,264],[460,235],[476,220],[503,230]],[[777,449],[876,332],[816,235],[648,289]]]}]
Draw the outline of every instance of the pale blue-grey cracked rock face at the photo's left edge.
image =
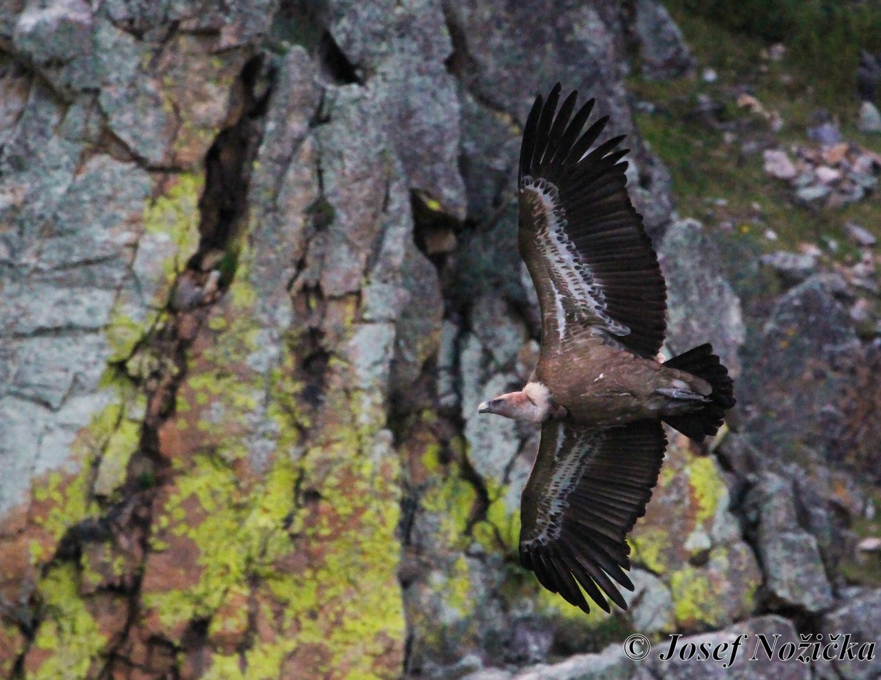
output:
[{"label": "pale blue-grey cracked rock face at the photo's left edge", "polygon": [[[47,136],[62,121],[56,99],[33,84],[0,161],[0,194],[16,197],[0,207],[15,229],[4,241],[0,394],[12,397],[9,422],[33,423],[33,437],[0,430],[0,456],[25,461],[4,476],[4,509],[24,500],[34,476],[76,468],[71,442],[113,400],[100,387],[112,355],[104,331],[122,290],[134,288],[132,246],[155,186],[143,169],[103,153],[80,162],[82,141]],[[168,241],[166,254],[180,248]],[[144,290],[166,276],[152,269]],[[154,303],[141,297],[137,308]]]}]

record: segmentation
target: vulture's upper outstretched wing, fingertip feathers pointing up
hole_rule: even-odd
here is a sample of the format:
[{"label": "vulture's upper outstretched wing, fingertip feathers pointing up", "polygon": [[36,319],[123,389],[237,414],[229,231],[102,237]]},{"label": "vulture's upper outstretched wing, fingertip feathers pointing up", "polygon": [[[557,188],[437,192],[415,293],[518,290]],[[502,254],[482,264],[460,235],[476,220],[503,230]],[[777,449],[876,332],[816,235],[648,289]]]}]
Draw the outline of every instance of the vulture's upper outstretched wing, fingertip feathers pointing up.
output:
[{"label": "vulture's upper outstretched wing, fingertip feathers pointing up", "polygon": [[609,120],[587,130],[591,99],[557,111],[560,86],[539,95],[523,130],[518,244],[542,312],[542,346],[586,334],[654,357],[665,331],[657,256],[626,190],[624,136],[591,150]]}]

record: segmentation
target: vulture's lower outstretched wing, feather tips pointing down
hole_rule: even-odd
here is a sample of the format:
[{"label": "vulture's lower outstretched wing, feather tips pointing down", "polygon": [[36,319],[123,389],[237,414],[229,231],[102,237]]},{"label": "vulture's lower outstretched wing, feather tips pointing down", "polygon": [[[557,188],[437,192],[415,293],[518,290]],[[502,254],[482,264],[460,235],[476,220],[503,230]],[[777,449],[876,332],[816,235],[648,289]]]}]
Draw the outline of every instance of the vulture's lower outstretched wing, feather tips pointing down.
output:
[{"label": "vulture's lower outstretched wing, feather tips pointing down", "polygon": [[584,593],[605,611],[603,594],[626,609],[613,581],[633,590],[626,536],[645,514],[666,445],[658,420],[604,429],[546,421],[521,501],[523,567],[583,611]]}]

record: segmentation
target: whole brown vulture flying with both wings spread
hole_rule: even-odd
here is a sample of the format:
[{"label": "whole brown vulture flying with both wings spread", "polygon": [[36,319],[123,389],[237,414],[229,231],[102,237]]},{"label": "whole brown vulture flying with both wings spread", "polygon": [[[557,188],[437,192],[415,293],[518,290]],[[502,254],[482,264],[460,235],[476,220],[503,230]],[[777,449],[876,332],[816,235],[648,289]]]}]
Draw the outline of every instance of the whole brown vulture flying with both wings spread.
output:
[{"label": "whole brown vulture flying with both wings spread", "polygon": [[522,391],[479,413],[541,424],[521,500],[520,560],[544,588],[589,611],[589,596],[626,609],[627,533],[657,482],[663,422],[701,440],[735,405],[733,383],[709,344],[667,362],[666,288],[627,194],[625,136],[594,146],[609,116],[584,129],[594,99],[575,111],[560,85],[536,99],[520,152],[517,242],[536,287],[541,351]]}]

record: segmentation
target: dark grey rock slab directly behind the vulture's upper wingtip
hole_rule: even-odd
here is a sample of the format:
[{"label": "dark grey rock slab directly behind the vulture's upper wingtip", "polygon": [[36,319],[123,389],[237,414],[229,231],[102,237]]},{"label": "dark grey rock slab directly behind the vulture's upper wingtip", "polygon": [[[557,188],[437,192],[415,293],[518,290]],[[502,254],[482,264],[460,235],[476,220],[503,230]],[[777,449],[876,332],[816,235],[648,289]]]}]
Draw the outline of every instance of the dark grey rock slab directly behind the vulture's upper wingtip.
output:
[{"label": "dark grey rock slab directly behind the vulture's upper wingtip", "polygon": [[[518,123],[525,121],[535,96],[559,80],[564,90],[578,88],[582,101],[596,98],[597,113],[611,114],[610,136],[631,135],[629,159],[639,179],[631,185],[633,201],[646,217],[649,233],[660,236],[670,220],[670,179],[636,134],[620,86],[627,49],[622,28],[632,24],[623,7],[573,0],[445,5],[453,38],[452,68],[464,84],[463,172],[470,209],[492,206],[494,211],[510,199],[513,174],[506,168],[515,167]],[[649,31],[653,21],[663,23],[664,13],[660,5],[651,5],[643,19]],[[544,19],[535,21],[536,16]]]}]

